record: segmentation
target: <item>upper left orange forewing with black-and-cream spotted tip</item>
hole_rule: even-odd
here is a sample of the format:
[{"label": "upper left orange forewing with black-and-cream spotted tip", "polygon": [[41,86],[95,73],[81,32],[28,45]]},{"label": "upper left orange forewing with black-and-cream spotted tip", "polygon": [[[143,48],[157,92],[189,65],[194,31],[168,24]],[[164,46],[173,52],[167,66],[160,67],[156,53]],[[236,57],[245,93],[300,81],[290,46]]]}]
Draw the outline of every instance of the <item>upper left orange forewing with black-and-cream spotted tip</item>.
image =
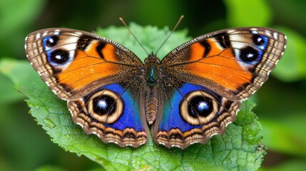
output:
[{"label": "upper left orange forewing with black-and-cream spotted tip", "polygon": [[131,78],[143,66],[134,53],[118,43],[69,28],[31,33],[25,48],[31,65],[64,100]]}]

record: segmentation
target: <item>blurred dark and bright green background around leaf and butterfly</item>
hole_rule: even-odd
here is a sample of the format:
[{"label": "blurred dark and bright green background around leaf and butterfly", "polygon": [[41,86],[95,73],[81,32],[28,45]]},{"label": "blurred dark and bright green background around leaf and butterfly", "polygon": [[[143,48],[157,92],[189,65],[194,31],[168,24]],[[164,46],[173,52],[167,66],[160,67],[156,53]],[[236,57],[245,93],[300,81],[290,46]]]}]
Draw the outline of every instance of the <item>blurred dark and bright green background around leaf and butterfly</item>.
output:
[{"label": "blurred dark and bright green background around leaf and butterfly", "polygon": [[[143,26],[172,28],[189,36],[235,26],[266,26],[287,35],[287,50],[269,81],[255,93],[267,155],[260,170],[306,170],[306,1],[46,1],[0,0],[0,170],[91,170],[86,157],[53,144],[28,114],[5,63],[26,60],[24,38],[49,27],[95,31],[122,26],[123,17]],[[120,42],[119,42],[120,43]]]}]

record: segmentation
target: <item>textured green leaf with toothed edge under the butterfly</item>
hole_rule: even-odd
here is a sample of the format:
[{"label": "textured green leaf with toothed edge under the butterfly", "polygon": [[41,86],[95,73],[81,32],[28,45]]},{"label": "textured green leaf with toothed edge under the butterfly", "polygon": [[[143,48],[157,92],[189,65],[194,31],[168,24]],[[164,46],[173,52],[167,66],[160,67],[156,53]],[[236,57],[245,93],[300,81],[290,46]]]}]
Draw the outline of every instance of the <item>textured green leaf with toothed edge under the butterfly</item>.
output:
[{"label": "textured green leaf with toothed edge under the butterfly", "polygon": [[[167,28],[158,29],[153,26],[131,24],[131,30],[143,46],[151,51],[156,51],[168,35]],[[98,33],[128,48],[138,46],[124,28],[99,28]],[[185,33],[173,33],[163,48],[173,48],[183,43]],[[132,51],[146,56],[140,48]],[[160,50],[163,56],[166,53]],[[26,69],[23,72],[31,73],[32,70]],[[261,126],[251,112],[254,103],[250,101],[243,103],[237,120],[228,125],[224,135],[213,136],[205,145],[194,144],[185,150],[176,147],[167,149],[153,143],[151,138],[146,145],[133,149],[104,144],[96,135],[86,135],[81,127],[73,124],[66,101],[58,99],[38,74],[33,74],[31,81],[19,85],[19,90],[29,98],[26,103],[31,108],[31,115],[53,142],[64,150],[85,155],[105,170],[257,170],[265,155],[265,147],[260,142]]]}]

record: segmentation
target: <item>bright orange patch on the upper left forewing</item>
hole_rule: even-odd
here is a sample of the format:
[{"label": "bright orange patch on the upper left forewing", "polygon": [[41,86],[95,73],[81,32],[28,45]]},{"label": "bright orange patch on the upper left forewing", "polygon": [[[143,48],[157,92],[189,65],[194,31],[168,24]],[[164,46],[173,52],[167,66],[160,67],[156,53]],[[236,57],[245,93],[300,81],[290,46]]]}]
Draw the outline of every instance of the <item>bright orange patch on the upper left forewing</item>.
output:
[{"label": "bright orange patch on the upper left forewing", "polygon": [[85,51],[76,50],[76,56],[65,70],[58,73],[58,82],[66,84],[74,90],[83,88],[101,78],[114,76],[119,71],[116,62],[116,48],[111,44],[101,49],[101,56],[97,51],[100,43],[91,43]]}]

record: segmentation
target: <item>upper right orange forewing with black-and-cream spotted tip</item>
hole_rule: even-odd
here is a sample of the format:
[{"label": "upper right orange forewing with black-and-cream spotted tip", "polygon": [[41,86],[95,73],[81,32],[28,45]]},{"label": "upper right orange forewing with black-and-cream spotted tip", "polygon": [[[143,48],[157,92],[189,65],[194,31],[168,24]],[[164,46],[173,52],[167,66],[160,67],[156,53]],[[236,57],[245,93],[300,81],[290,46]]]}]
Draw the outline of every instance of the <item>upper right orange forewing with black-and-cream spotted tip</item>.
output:
[{"label": "upper right orange forewing with black-and-cream spotted tip", "polygon": [[285,35],[269,28],[226,29],[175,48],[161,66],[172,78],[243,100],[267,80],[285,44]]}]

